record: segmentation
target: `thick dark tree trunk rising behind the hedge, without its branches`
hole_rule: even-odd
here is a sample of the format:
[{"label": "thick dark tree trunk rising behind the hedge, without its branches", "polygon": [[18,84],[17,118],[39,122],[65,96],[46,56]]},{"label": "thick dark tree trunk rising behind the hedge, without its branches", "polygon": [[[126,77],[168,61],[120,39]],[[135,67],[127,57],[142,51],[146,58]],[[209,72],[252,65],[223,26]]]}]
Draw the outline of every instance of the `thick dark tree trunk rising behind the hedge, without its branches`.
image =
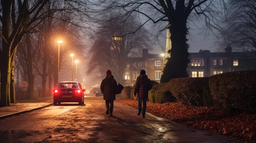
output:
[{"label": "thick dark tree trunk rising behind the hedge, without its branches", "polygon": [[172,48],[168,53],[171,55],[166,62],[166,66],[161,76],[161,83],[168,82],[170,79],[188,77],[186,71],[189,64],[189,52],[186,35],[186,18],[182,16],[175,18],[170,26]]}]

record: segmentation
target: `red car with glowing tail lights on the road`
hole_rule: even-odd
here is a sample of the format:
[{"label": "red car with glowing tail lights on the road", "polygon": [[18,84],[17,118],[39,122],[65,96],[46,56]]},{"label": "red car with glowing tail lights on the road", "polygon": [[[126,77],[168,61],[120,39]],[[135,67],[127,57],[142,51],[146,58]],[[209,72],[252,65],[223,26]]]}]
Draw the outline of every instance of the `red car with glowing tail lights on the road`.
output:
[{"label": "red car with glowing tail lights on the road", "polygon": [[56,89],[53,90],[53,104],[61,104],[61,102],[78,102],[79,105],[84,103],[84,89],[81,84],[76,81],[62,81],[58,83]]}]

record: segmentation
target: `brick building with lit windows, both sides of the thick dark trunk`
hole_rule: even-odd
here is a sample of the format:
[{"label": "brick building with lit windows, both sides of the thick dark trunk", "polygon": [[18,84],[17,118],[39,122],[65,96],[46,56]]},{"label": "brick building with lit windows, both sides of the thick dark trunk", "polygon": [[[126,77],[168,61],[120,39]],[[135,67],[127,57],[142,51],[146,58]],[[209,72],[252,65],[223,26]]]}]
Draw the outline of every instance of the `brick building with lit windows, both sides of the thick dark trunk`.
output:
[{"label": "brick building with lit windows, both sides of the thick dark trunk", "polygon": [[[144,49],[142,57],[130,58],[128,71],[124,75],[124,86],[133,86],[142,69],[146,70],[148,78],[160,83],[163,63],[166,62],[165,56],[149,54],[148,50]],[[191,61],[187,67],[189,77],[209,77],[230,71],[256,69],[256,58],[253,53],[231,52],[230,47],[226,48],[225,52],[217,53],[200,50],[198,53],[190,53],[189,59]]]}]

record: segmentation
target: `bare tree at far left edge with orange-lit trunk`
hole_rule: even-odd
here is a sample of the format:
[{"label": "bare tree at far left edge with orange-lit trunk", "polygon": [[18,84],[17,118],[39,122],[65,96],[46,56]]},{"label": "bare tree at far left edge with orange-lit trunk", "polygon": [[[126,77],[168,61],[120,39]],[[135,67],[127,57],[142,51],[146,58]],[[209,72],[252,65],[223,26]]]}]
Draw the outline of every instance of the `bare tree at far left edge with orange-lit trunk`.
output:
[{"label": "bare tree at far left edge with orange-lit trunk", "polygon": [[[42,12],[43,7],[51,2],[56,2],[56,9],[48,9]],[[1,0],[0,20],[2,49],[0,51],[0,75],[1,91],[0,106],[9,106],[11,99],[15,99],[14,88],[14,57],[19,44],[25,33],[33,31],[35,26],[44,18],[56,11],[77,10],[85,5],[84,0]],[[70,6],[71,7],[66,7]],[[85,9],[79,9],[84,13]],[[33,24],[33,25],[32,25]],[[12,102],[15,102],[13,100]]]}]

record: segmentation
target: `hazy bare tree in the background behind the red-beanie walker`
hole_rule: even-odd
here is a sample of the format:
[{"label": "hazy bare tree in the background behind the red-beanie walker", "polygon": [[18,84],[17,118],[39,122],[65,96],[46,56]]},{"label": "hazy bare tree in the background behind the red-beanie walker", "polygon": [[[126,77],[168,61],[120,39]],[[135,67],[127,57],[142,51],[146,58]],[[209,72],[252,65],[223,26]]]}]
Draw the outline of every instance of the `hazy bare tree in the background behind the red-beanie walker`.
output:
[{"label": "hazy bare tree in the background behind the red-beanie walker", "polygon": [[[103,24],[92,37],[88,73],[96,71],[103,78],[106,70],[112,70],[119,83],[127,71],[129,58],[140,55],[143,48],[151,49],[146,30],[141,28],[135,17],[117,18],[117,14],[105,16]],[[101,21],[102,22],[102,21]],[[97,78],[97,77],[96,77]],[[99,78],[99,77],[98,77]]]}]

